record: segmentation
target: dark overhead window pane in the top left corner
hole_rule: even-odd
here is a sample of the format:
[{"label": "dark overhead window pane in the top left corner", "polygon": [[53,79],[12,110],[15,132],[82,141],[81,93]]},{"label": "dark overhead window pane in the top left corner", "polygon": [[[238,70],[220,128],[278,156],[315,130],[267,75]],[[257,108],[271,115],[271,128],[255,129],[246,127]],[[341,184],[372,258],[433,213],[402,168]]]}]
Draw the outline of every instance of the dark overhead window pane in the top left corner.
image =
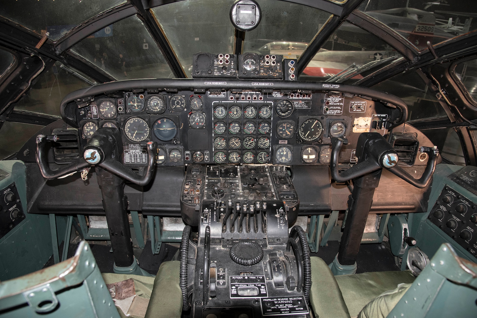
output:
[{"label": "dark overhead window pane in the top left corner", "polygon": [[125,0],[2,0],[0,15],[34,32],[58,40],[82,22]]}]

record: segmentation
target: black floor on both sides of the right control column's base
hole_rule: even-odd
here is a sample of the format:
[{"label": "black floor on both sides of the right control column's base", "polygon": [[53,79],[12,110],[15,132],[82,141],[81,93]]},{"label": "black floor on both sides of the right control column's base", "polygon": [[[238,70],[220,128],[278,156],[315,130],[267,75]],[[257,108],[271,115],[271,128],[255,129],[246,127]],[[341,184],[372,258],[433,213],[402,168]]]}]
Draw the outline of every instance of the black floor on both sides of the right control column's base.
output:
[{"label": "black floor on both sides of the right control column's base", "polygon": [[[318,252],[311,253],[311,256],[318,256],[326,264],[330,264],[336,254],[338,254],[339,247],[340,242],[328,241],[328,246],[320,246]],[[358,266],[356,274],[401,269],[394,263],[393,254],[386,248],[384,243],[361,244],[356,258],[356,265]]]}]

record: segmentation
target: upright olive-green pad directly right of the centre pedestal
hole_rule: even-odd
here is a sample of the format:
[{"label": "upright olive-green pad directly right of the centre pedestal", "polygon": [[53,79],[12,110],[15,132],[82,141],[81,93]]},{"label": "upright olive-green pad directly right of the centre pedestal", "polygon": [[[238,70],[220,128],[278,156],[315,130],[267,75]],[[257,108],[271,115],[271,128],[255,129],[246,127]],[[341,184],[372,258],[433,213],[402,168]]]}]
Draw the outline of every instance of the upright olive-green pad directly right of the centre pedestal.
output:
[{"label": "upright olive-green pad directly right of the centre pedestal", "polygon": [[316,317],[349,318],[340,288],[326,263],[311,257],[310,303]]}]

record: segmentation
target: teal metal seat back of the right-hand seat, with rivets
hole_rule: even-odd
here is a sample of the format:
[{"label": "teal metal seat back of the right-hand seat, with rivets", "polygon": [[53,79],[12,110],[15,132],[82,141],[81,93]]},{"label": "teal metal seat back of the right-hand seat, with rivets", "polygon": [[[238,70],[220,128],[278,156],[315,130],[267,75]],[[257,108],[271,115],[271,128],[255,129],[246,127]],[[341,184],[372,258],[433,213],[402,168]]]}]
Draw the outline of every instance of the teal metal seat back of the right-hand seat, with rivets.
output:
[{"label": "teal metal seat back of the right-hand seat, with rivets", "polygon": [[387,317],[475,318],[476,301],[477,264],[444,243]]}]

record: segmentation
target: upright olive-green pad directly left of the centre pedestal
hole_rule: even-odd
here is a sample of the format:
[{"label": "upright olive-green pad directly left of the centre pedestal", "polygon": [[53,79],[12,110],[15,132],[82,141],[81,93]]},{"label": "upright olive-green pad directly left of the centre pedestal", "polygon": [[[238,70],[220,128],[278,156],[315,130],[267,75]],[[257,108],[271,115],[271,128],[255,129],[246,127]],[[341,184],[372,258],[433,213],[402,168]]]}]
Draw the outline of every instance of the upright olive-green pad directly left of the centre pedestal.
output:
[{"label": "upright olive-green pad directly left of the centre pedestal", "polygon": [[145,318],[180,318],[182,292],[179,286],[180,262],[163,262],[154,280],[149,306]]}]

